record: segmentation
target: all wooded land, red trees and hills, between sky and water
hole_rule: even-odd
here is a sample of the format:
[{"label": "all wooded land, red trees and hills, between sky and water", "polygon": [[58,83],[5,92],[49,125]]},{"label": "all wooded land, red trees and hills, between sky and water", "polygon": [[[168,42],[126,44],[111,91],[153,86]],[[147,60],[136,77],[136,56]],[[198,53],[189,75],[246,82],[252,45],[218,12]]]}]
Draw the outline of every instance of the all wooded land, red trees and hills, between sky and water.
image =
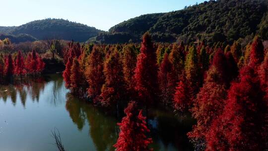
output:
[{"label": "all wooded land, red trees and hills, between sky and water", "polygon": [[195,151],[268,150],[267,0],[209,0],[109,32],[63,19],[0,32],[0,83],[63,65],[68,95],[120,119],[116,151],[152,151],[154,107],[191,114]]}]

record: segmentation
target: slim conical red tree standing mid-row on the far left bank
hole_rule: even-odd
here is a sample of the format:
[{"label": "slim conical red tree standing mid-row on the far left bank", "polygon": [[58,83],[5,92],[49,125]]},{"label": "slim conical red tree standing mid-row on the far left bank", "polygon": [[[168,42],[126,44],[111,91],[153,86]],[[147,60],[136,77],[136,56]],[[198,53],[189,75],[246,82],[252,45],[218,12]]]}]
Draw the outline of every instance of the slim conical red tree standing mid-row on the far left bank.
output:
[{"label": "slim conical red tree standing mid-row on the far left bank", "polygon": [[14,73],[20,76],[20,80],[22,80],[22,75],[26,73],[24,66],[24,57],[21,55],[21,52],[18,52],[17,59],[15,61],[15,70]]}]

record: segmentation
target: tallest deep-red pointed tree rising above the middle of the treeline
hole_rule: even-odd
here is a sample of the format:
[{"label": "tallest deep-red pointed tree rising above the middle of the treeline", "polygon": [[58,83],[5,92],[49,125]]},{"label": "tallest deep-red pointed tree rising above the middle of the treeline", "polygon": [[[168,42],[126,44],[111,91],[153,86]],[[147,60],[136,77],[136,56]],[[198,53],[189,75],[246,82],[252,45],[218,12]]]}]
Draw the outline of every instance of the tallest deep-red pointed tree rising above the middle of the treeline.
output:
[{"label": "tallest deep-red pointed tree rising above the middle of the treeline", "polygon": [[151,37],[145,33],[135,68],[135,90],[146,106],[153,103],[158,95],[156,55]]}]

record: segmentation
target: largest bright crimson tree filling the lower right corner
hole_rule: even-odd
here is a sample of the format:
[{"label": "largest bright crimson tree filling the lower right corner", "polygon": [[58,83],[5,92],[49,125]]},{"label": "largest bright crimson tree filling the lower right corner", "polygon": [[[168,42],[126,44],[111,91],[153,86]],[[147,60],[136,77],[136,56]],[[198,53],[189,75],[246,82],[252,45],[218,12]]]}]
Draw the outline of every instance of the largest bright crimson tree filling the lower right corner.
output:
[{"label": "largest bright crimson tree filling the lower right corner", "polygon": [[240,70],[240,80],[228,91],[223,114],[206,135],[207,151],[263,151],[268,107],[253,67]]}]

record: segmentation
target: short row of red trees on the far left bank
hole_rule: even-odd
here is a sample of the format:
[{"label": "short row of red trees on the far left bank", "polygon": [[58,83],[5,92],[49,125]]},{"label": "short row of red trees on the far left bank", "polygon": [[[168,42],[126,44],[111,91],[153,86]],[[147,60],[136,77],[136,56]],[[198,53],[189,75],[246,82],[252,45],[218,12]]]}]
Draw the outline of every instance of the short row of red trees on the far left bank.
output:
[{"label": "short row of red trees on the far left bank", "polygon": [[12,83],[25,76],[40,75],[45,68],[41,56],[33,50],[25,56],[21,51],[13,54],[0,54],[0,84]]}]

